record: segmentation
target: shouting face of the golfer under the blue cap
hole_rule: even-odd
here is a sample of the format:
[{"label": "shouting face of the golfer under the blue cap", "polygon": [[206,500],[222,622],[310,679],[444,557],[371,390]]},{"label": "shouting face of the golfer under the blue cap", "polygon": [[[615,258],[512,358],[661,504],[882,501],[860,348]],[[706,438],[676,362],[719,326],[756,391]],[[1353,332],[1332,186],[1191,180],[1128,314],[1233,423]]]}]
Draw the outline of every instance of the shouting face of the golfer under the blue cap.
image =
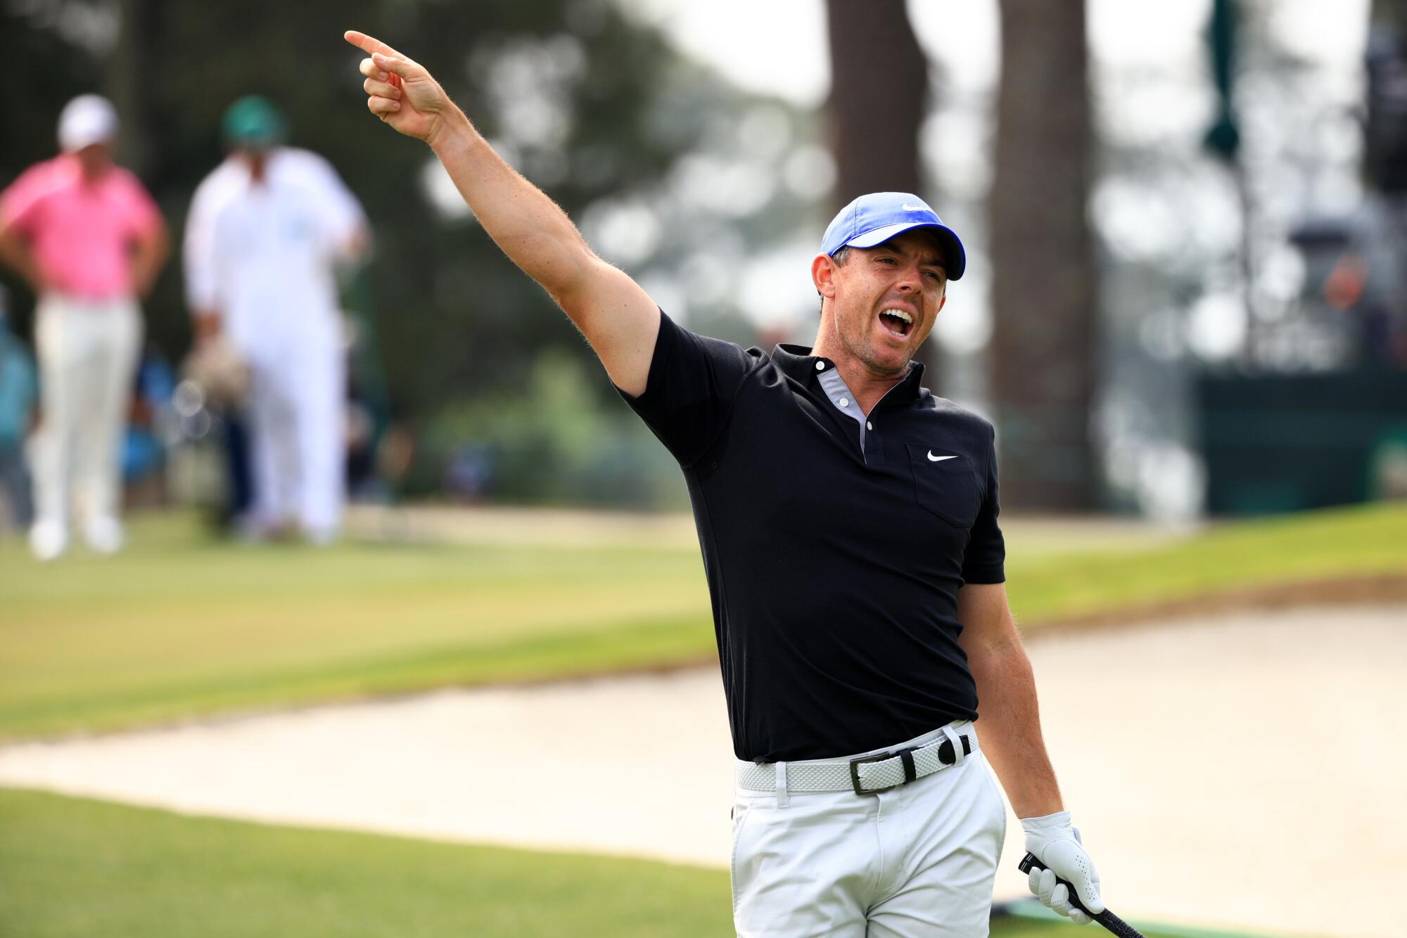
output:
[{"label": "shouting face of the golfer under the blue cap", "polygon": [[926,231],[851,249],[834,273],[841,345],[871,373],[898,373],[933,329],[947,278],[943,249]]}]

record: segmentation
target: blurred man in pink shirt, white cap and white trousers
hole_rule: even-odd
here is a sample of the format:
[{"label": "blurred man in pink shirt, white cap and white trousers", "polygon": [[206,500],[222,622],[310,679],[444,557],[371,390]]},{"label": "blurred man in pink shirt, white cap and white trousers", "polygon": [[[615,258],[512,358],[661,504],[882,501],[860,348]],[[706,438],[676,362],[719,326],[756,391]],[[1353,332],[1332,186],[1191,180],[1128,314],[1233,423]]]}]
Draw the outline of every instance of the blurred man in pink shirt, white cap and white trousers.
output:
[{"label": "blurred man in pink shirt, white cap and white trousers", "polygon": [[83,94],[59,115],[61,153],[0,193],[0,260],[38,297],[41,425],[30,547],[52,560],[82,520],[89,546],[122,546],[120,442],[141,350],[138,298],[169,250],[156,203],[113,163],[117,111]]}]

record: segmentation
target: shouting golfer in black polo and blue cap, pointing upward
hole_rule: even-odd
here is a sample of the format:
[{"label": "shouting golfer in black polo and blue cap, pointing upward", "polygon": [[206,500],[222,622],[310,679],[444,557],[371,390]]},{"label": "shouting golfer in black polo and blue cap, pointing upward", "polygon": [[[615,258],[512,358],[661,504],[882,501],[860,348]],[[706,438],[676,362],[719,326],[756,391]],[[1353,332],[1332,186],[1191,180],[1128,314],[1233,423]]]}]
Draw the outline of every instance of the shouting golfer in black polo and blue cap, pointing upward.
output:
[{"label": "shouting golfer in black polo and blue cap, pointing upward", "polygon": [[1006,817],[988,762],[1050,868],[1033,892],[1089,921],[1058,875],[1102,911],[1006,603],[992,426],[912,360],[962,276],[958,236],[916,195],[862,195],[812,262],[812,349],[706,339],[597,257],[422,66],[346,38],[371,113],[429,143],[684,470],[737,758],[737,932],[986,935]]}]

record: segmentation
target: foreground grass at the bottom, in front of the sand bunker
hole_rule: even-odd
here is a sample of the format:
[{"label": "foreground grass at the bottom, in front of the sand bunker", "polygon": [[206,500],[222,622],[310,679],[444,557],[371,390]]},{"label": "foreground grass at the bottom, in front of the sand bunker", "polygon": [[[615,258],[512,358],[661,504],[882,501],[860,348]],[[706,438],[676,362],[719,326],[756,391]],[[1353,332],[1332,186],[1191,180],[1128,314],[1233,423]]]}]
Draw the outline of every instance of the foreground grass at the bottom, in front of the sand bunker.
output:
[{"label": "foreground grass at the bottom, in front of the sand bunker", "polygon": [[[0,788],[0,934],[732,935],[726,870],[266,827]],[[993,938],[1072,925],[999,920]],[[1150,932],[1150,938],[1159,938]]]}]

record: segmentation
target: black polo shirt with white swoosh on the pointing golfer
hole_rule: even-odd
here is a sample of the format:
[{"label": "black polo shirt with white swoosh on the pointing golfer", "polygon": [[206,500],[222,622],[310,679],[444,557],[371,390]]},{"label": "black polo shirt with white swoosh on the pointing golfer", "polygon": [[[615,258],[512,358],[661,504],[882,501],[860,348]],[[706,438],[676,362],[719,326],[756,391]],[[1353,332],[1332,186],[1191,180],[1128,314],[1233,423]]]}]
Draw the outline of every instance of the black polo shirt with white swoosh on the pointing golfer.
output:
[{"label": "black polo shirt with white swoosh on the pointing golfer", "polygon": [[688,481],[733,750],[756,762],[976,719],[957,591],[1005,579],[992,425],[920,387],[922,364],[855,419],[808,352],[661,314],[646,390],[622,392]]}]

